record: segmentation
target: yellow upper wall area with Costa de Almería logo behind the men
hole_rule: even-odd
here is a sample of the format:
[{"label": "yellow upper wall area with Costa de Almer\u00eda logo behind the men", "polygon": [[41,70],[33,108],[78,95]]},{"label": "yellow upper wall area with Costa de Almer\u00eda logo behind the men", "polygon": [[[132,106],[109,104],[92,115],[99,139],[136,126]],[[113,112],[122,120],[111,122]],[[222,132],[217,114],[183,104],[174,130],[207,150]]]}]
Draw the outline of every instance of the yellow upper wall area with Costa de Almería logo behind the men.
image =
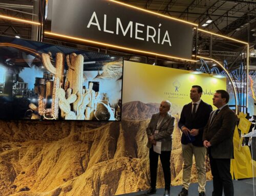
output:
[{"label": "yellow upper wall area with Costa de Almer\u00eda logo behind the men", "polygon": [[160,103],[162,100],[169,100],[173,103],[175,112],[180,113],[183,105],[191,102],[189,92],[192,85],[202,86],[202,100],[211,105],[215,91],[226,90],[226,78],[189,73],[186,70],[124,61],[123,103]]}]

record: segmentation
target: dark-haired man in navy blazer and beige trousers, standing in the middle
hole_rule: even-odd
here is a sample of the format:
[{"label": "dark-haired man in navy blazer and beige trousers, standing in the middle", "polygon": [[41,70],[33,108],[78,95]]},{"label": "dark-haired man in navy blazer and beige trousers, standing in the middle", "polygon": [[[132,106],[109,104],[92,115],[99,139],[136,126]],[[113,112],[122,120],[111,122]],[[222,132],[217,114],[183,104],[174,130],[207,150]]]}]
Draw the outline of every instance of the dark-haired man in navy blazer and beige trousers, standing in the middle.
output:
[{"label": "dark-haired man in navy blazer and beige trousers, standing in the middle", "polygon": [[179,196],[187,196],[191,177],[193,155],[195,156],[198,173],[199,196],[205,196],[206,169],[205,155],[206,148],[203,146],[203,130],[212,111],[211,105],[201,100],[202,88],[193,85],[190,90],[192,102],[184,105],[179,120],[179,128],[182,130],[181,146],[183,157],[182,190]]}]

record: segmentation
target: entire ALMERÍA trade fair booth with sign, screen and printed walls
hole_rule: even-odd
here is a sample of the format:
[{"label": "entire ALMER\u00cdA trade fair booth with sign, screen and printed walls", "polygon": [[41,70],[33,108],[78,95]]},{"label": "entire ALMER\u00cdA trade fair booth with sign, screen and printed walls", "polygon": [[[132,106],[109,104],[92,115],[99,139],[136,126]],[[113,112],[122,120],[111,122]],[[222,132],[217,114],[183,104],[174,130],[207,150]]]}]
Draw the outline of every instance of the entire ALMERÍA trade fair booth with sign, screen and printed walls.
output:
[{"label": "entire ALMER\u00cdA trade fair booth with sign, screen and printed walls", "polygon": [[[192,85],[202,86],[202,100],[214,110],[216,90],[230,94],[229,107],[239,118],[230,171],[233,179],[253,181],[256,148],[246,134],[252,131],[256,74],[249,72],[247,42],[114,0],[48,0],[41,6],[38,23],[22,21],[37,28],[36,41],[0,36],[1,195],[146,190],[145,129],[162,100],[172,102],[171,179],[172,186],[181,185],[178,121]],[[208,54],[198,50],[202,38]],[[212,40],[237,48],[238,56],[219,61]],[[210,181],[208,158],[205,164]],[[158,169],[157,188],[163,188]],[[191,182],[197,182],[195,164]]]}]

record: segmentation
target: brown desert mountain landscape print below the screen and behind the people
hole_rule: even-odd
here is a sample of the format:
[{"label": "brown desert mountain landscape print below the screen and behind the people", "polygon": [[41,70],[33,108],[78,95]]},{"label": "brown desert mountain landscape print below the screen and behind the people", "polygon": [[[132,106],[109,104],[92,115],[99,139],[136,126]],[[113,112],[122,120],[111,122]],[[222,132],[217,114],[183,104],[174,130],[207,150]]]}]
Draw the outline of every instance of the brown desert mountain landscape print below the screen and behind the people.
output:
[{"label": "brown desert mountain landscape print below the screen and behind the people", "polygon": [[[158,106],[125,103],[121,122],[1,121],[0,195],[103,196],[147,189],[145,129]],[[179,115],[174,116],[172,186],[182,181]],[[208,160],[206,168],[211,179]],[[163,173],[158,169],[157,188],[162,188]],[[196,182],[195,165],[192,172],[191,181]]]}]

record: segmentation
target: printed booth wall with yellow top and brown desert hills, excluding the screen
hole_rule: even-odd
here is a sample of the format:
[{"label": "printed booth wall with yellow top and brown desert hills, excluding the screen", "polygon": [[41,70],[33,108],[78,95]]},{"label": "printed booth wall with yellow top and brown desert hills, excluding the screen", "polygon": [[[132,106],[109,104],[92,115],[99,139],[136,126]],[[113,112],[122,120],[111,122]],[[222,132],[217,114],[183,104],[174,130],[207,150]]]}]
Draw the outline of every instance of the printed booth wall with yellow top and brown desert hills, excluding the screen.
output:
[{"label": "printed booth wall with yellow top and brown desert hills, excluding the screen", "polygon": [[[208,74],[124,62],[121,122],[0,121],[0,195],[117,195],[150,185],[145,128],[161,100],[175,116],[172,185],[181,184],[182,156],[177,126],[191,85],[212,103],[225,79]],[[206,92],[207,90],[207,92]],[[176,92],[175,92],[176,91]],[[177,92],[178,91],[178,92]],[[211,179],[206,160],[207,179]],[[196,168],[192,169],[196,182]],[[164,187],[161,167],[157,187]]]}]

